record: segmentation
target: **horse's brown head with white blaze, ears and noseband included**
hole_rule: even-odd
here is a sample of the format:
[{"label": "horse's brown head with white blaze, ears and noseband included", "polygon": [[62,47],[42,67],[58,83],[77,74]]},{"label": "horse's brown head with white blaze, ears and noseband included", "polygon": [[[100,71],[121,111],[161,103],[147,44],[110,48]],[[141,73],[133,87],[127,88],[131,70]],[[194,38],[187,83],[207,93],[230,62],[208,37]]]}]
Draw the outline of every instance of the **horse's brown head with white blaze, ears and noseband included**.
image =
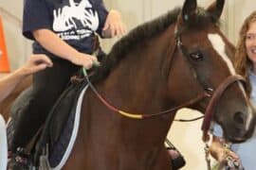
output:
[{"label": "horse's brown head with white blaze, ears and noseband included", "polygon": [[185,1],[174,28],[173,57],[168,61],[169,95],[175,96],[176,103],[186,103],[202,93],[210,95],[202,95],[193,106],[207,112],[203,128],[208,130],[212,118],[229,141],[242,142],[252,135],[255,113],[243,78],[235,76],[234,48],[218,26],[223,7],[224,0],[206,10],[197,8],[196,0]]}]

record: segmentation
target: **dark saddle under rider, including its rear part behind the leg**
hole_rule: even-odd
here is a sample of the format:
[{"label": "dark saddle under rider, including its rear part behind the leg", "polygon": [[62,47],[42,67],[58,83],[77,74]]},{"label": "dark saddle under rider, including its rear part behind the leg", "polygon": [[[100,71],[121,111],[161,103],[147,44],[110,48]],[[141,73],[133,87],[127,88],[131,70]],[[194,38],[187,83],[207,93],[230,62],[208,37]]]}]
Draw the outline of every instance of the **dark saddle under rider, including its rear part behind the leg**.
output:
[{"label": "dark saddle under rider, including its rear part behind the leg", "polygon": [[[32,147],[28,148],[35,167],[40,165],[39,161],[41,156],[46,153],[46,150],[48,154],[47,159],[50,159],[51,155],[54,155],[54,157],[56,157],[56,155],[58,156],[57,159],[52,161],[53,167],[54,165],[58,164],[60,160],[62,160],[64,148],[61,147],[66,147],[69,142],[69,137],[72,132],[72,124],[74,124],[74,117],[76,114],[77,101],[80,93],[86,85],[87,81],[82,76],[82,71],[77,73],[75,76],[72,76],[67,88],[50,110],[45,124],[43,127],[41,127],[37,135],[32,140]],[[31,97],[30,91],[31,87],[24,91],[24,94],[19,95],[19,97],[13,103],[11,113],[15,113],[15,115],[11,115],[13,120],[9,122],[7,127],[9,144],[11,144],[12,141],[16,121],[20,117],[19,110],[22,110],[22,108],[27,105],[27,101]],[[69,129],[66,130],[66,128]],[[64,131],[66,131],[66,134],[64,134]],[[55,148],[57,148],[57,151]]]}]

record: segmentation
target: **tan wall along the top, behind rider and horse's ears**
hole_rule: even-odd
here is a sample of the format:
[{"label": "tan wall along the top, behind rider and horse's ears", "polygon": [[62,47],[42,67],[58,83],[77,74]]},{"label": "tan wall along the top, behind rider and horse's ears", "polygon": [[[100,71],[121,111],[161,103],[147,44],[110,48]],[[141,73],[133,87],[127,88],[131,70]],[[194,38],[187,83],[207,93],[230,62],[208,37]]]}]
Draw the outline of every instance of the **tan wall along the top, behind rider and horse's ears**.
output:
[{"label": "tan wall along the top, behind rider and horse's ears", "polygon": [[[151,20],[183,3],[183,0],[163,0],[161,4],[157,0],[105,0],[108,8],[117,8],[123,15],[128,30]],[[198,0],[200,6],[206,7],[211,0]],[[255,9],[253,0],[227,0],[225,12],[223,13],[223,29],[229,36],[231,42],[237,41],[237,32],[247,14]],[[21,36],[23,1],[0,0],[0,15],[4,20],[6,42],[8,44],[9,60],[11,68],[15,69],[21,65],[28,54],[30,54],[30,42]],[[104,49],[108,51],[117,39],[102,41]]]}]

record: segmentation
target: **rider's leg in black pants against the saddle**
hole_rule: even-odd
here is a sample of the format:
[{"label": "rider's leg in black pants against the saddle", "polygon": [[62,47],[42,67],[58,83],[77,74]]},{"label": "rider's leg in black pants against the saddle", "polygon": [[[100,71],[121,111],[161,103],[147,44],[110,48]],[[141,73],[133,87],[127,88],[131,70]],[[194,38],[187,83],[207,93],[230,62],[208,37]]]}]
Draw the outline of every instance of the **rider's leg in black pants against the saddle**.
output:
[{"label": "rider's leg in black pants against the saddle", "polygon": [[33,76],[32,95],[17,121],[10,149],[24,148],[46,121],[46,116],[79,67],[64,59],[52,59],[53,67]]}]

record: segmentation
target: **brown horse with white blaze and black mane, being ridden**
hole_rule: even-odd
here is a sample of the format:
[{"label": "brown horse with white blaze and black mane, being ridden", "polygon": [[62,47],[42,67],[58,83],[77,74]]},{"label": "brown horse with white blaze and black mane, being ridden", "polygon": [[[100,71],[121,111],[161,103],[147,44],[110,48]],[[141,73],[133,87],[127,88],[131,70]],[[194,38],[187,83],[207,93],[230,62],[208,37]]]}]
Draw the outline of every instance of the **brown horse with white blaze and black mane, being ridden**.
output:
[{"label": "brown horse with white blaze and black mane, being ridden", "polygon": [[[251,136],[255,113],[243,78],[235,76],[233,46],[218,26],[223,6],[217,0],[205,10],[186,0],[113,46],[91,78],[103,99],[92,87],[83,96],[81,125],[64,169],[170,170],[164,141],[174,110],[185,106],[206,112],[204,129],[212,118],[231,142]],[[119,113],[101,101],[142,115]]]}]

